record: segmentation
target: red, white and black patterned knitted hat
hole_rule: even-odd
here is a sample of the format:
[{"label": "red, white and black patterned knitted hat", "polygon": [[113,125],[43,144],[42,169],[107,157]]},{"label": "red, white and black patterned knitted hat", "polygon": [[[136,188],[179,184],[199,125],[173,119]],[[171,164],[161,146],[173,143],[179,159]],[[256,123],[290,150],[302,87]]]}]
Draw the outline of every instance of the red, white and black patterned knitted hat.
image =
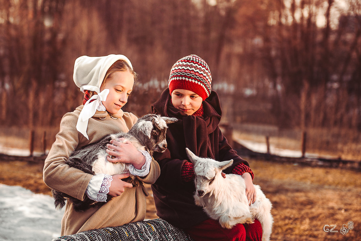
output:
[{"label": "red, white and black patterned knitted hat", "polygon": [[205,100],[212,90],[212,76],[207,63],[197,55],[178,60],[170,70],[169,93],[175,89],[195,92]]}]

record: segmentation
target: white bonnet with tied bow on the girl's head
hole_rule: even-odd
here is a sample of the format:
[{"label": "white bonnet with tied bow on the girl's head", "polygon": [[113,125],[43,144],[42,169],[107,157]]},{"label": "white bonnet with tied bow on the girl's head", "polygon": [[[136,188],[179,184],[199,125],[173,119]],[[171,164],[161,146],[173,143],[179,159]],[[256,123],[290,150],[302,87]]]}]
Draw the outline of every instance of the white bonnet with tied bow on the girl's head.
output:
[{"label": "white bonnet with tied bow on the girl's head", "polygon": [[[103,83],[106,72],[117,60],[124,60],[132,64],[124,55],[108,55],[101,57],[81,56],[75,60],[73,79],[82,92],[85,90],[95,91],[98,94],[93,95],[85,104],[79,115],[77,130],[89,139],[87,127],[89,119],[95,114],[96,110],[105,111],[105,106],[101,103],[106,100],[109,94],[108,89],[100,92],[100,86]],[[91,100],[94,100],[90,103]]]}]

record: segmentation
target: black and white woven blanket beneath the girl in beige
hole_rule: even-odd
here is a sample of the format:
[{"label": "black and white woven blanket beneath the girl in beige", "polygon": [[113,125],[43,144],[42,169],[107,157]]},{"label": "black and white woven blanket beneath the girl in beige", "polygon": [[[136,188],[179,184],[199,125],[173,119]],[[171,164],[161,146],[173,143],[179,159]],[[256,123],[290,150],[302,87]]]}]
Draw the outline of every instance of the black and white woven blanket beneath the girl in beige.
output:
[{"label": "black and white woven blanket beneath the girl in beige", "polygon": [[100,228],[55,238],[52,241],[193,241],[183,230],[163,219]]}]

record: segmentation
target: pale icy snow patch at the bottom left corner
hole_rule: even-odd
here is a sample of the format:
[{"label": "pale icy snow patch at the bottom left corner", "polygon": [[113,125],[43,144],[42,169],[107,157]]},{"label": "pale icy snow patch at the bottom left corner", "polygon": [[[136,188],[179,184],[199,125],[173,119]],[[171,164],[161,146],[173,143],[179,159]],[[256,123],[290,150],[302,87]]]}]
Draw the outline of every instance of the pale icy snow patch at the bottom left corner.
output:
[{"label": "pale icy snow patch at the bottom left corner", "polygon": [[63,214],[48,195],[0,184],[0,241],[51,241]]}]

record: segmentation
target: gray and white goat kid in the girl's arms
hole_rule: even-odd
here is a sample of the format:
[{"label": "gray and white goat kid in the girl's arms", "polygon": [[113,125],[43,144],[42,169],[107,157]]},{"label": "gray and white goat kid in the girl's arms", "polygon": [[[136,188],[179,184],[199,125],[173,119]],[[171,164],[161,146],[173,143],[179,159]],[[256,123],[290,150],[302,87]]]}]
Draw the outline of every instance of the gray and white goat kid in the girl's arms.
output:
[{"label": "gray and white goat kid in the girl's arms", "polygon": [[[106,144],[111,139],[119,141],[119,138],[129,140],[138,150],[148,151],[150,155],[153,151],[164,152],[167,149],[167,142],[165,139],[167,124],[177,121],[177,118],[161,117],[159,115],[148,114],[139,118],[129,132],[119,132],[117,134],[110,134],[102,138],[96,143],[83,146],[81,149],[75,150],[71,153],[66,163],[71,167],[78,168],[83,172],[96,174],[123,174],[129,173],[128,163],[111,163],[106,160],[108,154],[105,152]],[[131,182],[134,176],[124,179],[124,181]],[[74,209],[78,212],[85,211],[93,206],[101,206],[104,202],[95,202],[85,197],[84,201],[71,197],[60,191],[52,190],[54,204],[56,208],[61,209],[65,205],[65,200],[73,202]],[[108,195],[107,201],[112,197]]]}]

